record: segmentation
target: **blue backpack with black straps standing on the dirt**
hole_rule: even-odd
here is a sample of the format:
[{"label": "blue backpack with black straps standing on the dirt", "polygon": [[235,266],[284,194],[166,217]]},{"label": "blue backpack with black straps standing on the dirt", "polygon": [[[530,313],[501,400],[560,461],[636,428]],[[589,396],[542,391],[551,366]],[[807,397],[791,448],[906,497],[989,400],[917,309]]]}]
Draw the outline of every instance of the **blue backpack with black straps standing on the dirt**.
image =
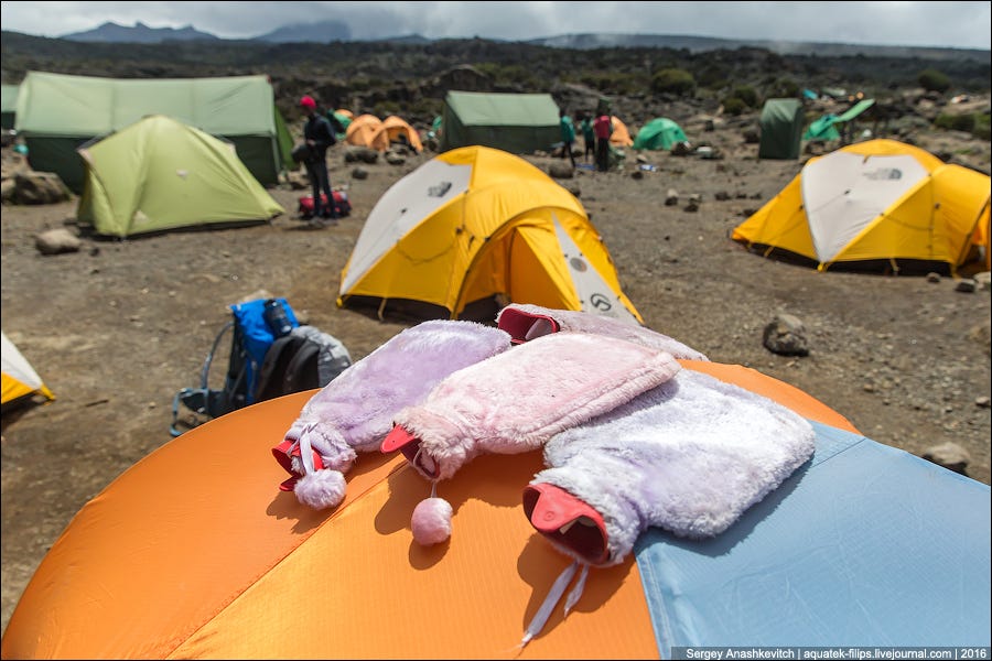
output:
[{"label": "blue backpack with black straps standing on the dirt", "polygon": [[[299,327],[300,323],[289,302],[281,297],[274,300],[282,304],[282,310],[292,328]],[[175,393],[172,400],[172,424],[169,431],[173,436],[183,433],[176,426],[181,407],[200,416],[219,418],[256,402],[259,372],[266,354],[276,342],[273,328],[266,321],[266,303],[270,299],[257,299],[230,306],[231,319],[224,324],[214,338],[214,344],[201,370],[200,386],[183,388]],[[211,388],[211,366],[220,347],[220,342],[228,330],[231,333],[231,342],[224,386]],[[190,426],[195,425],[195,422],[190,423]]]}]

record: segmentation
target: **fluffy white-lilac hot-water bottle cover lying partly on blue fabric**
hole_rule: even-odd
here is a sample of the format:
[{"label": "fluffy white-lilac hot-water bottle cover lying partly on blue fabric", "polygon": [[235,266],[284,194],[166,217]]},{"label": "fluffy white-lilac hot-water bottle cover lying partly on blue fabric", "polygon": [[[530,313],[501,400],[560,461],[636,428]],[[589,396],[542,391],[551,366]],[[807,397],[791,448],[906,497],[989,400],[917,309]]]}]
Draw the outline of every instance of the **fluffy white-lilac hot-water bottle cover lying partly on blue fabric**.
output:
[{"label": "fluffy white-lilac hot-water bottle cover lying partly on blue fabric", "polygon": [[612,565],[650,525],[690,539],[726,530],[812,456],[813,440],[812,425],[777,402],[682,370],[556,435],[544,445],[550,468],[531,484],[556,485],[600,512]]}]

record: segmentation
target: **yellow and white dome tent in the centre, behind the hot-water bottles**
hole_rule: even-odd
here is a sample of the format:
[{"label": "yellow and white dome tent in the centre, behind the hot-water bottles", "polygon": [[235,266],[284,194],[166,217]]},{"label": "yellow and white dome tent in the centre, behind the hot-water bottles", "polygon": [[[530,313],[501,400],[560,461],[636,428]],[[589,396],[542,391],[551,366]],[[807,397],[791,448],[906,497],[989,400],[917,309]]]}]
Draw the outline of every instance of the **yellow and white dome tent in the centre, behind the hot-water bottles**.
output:
[{"label": "yellow and white dome tent in the centre, behind the hot-water bottles", "polygon": [[481,145],[435,156],[382,195],[337,299],[380,317],[489,321],[507,303],[643,323],[575,196],[528,161]]}]

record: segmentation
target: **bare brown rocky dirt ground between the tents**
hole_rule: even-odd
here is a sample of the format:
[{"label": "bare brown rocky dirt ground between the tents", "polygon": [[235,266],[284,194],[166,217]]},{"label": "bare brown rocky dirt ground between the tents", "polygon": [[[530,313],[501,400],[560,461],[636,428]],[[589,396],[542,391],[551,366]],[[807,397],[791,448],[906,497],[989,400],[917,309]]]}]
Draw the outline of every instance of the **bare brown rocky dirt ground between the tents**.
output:
[{"label": "bare brown rocky dirt ground between the tents", "polygon": [[[988,106],[988,98],[984,99]],[[754,117],[686,121],[722,159],[634,154],[623,170],[561,180],[603,235],[625,292],[647,325],[707,354],[791,383],[865,435],[923,455],[953,443],[967,475],[990,481],[990,293],[960,280],[817,272],[747,252],[730,230],[774,197],[801,161],[758,161],[742,127]],[[964,133],[916,142],[989,172],[990,145]],[[4,149],[4,160],[13,156]],[[432,156],[363,164],[331,153],[351,217],[313,227],[294,217],[303,191],[271,191],[287,213],[238,229],[127,241],[84,235],[82,250],[43,257],[35,237],[75,225],[76,198],[2,209],[3,329],[57,399],[2,419],[2,627],[73,514],[121,472],[170,442],[172,398],[198,382],[227,305],[267,291],[341,339],[358,360],[409,325],[335,305],[338,277],[379,196]],[[529,155],[548,169],[556,160]],[[581,159],[580,159],[581,162]],[[638,176],[635,175],[635,173]],[[665,205],[669,189],[679,203]],[[696,210],[690,195],[699,195]],[[763,346],[777,313],[805,324],[810,353]],[[219,373],[219,370],[218,372]]]}]

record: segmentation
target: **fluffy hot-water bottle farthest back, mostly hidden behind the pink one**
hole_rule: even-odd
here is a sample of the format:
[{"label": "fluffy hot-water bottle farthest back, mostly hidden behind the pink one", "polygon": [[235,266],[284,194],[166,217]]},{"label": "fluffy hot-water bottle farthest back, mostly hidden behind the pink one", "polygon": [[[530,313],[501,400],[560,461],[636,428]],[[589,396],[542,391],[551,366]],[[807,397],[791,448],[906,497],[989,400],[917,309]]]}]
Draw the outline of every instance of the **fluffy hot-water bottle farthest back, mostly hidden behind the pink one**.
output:
[{"label": "fluffy hot-water bottle farthest back, mostly hidden behind the pink one", "polygon": [[[510,317],[515,316],[518,312],[524,313],[525,315],[551,317],[558,323],[561,330],[592,333],[615,339],[625,339],[659,351],[668,351],[676,358],[709,361],[709,358],[703,354],[686,346],[677,339],[668,337],[667,335],[662,335],[645,326],[638,326],[613,317],[592,314],[590,312],[553,310],[550,307],[541,307],[540,305],[532,305],[530,303],[510,303],[497,313],[497,326],[504,328],[504,325],[500,324],[500,319],[504,319],[504,315],[506,315],[506,319],[504,319],[505,323],[508,323]],[[516,325],[516,323],[517,319],[514,321],[514,325]],[[533,333],[550,332],[549,329],[541,329],[540,327],[532,329]],[[520,337],[517,339],[532,339],[532,337]]]}]

